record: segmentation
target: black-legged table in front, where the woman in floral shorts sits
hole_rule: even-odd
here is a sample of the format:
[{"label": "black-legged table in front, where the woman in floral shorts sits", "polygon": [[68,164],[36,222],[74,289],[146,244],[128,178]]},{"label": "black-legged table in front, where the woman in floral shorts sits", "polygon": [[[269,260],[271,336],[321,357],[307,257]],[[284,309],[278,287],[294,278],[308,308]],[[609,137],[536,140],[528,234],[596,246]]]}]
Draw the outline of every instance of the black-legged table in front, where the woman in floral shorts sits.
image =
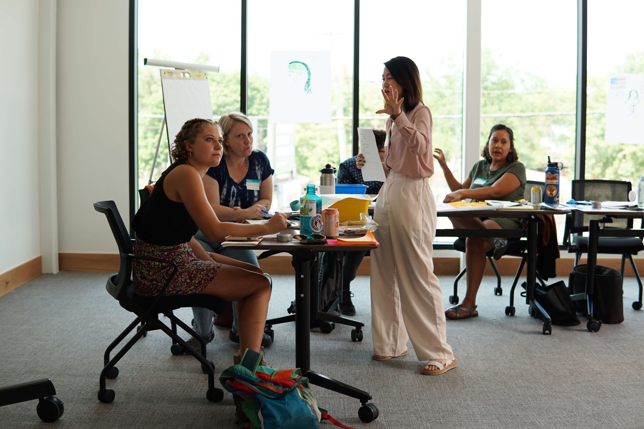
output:
[{"label": "black-legged table in front, where the woman in floral shorts sits", "polygon": [[[292,231],[289,231],[291,233]],[[319,324],[322,319],[325,322],[339,322],[354,325],[356,328],[364,326],[362,322],[328,315],[319,311],[318,308],[318,285],[317,271],[312,276],[311,272],[317,266],[318,253],[321,251],[347,251],[374,250],[376,245],[351,245],[338,246],[331,244],[301,244],[298,241],[281,242],[272,237],[263,239],[256,246],[229,246],[232,249],[263,250],[258,259],[264,259],[277,253],[289,253],[295,268],[295,315],[285,316],[267,320],[267,325],[283,322],[295,322],[295,366],[299,368],[302,375],[308,381],[319,387],[327,388],[340,394],[359,399],[361,407],[358,410],[360,419],[366,423],[378,417],[378,408],[374,403],[368,403],[372,399],[370,393],[359,388],[337,381],[334,378],[325,376],[311,369],[310,365],[310,329]]]}]

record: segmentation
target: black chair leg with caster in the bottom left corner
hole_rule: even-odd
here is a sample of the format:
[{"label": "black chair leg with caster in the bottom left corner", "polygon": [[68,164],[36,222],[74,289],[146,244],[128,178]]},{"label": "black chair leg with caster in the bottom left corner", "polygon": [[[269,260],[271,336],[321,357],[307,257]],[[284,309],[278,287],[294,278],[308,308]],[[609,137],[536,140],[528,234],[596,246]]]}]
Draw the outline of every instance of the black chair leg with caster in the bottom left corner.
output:
[{"label": "black chair leg with caster in the bottom left corner", "polygon": [[65,410],[61,399],[55,397],[51,379],[43,378],[0,388],[0,406],[38,399],[36,413],[46,423],[57,421]]}]

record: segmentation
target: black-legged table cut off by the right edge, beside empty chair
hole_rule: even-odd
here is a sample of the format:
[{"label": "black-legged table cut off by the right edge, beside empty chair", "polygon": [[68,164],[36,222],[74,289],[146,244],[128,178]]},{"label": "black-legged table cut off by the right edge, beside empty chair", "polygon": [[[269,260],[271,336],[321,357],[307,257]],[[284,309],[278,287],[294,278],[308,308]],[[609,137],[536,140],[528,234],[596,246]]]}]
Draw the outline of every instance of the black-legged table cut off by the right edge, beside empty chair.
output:
[{"label": "black-legged table cut off by the right edge, beside empty chair", "polygon": [[[587,272],[586,288],[584,293],[571,295],[573,300],[586,300],[588,322],[586,327],[591,332],[600,330],[601,322],[595,320],[592,308],[592,295],[595,286],[595,271],[597,268],[597,249],[600,237],[643,237],[644,229],[636,230],[634,228],[605,228],[605,224],[612,223],[612,219],[643,219],[644,210],[627,210],[621,208],[592,208],[587,205],[565,205],[571,210],[582,212],[584,216],[589,217],[588,226],[588,253],[587,253]],[[638,301],[633,303],[633,308],[641,309],[642,295],[639,293]]]}]

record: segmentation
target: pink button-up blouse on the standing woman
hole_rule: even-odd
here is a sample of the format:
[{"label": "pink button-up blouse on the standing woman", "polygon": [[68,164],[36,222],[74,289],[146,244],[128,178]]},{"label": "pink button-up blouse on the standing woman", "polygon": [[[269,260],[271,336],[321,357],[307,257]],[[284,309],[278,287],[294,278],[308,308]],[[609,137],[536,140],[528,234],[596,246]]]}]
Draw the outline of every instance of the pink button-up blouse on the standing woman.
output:
[{"label": "pink button-up blouse on the standing woman", "polygon": [[387,120],[389,145],[385,148],[384,174],[390,170],[412,179],[430,178],[434,174],[431,156],[431,112],[419,103],[408,114],[401,112]]}]

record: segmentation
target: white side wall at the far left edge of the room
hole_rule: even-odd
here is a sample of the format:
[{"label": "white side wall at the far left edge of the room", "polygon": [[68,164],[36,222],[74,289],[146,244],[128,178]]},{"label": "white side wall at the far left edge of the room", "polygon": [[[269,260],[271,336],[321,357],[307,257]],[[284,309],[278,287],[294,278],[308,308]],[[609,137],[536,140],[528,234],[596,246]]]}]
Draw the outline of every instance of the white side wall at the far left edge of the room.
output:
[{"label": "white side wall at the far left edge of the room", "polygon": [[0,273],[41,254],[38,1],[0,1]]}]

